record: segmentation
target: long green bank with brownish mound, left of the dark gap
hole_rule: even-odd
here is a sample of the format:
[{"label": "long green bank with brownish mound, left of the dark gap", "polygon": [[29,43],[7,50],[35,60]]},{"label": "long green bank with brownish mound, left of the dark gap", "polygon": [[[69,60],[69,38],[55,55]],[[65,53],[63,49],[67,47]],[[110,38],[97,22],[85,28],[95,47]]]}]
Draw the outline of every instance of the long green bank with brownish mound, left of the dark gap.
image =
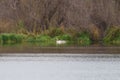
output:
[{"label": "long green bank with brownish mound, left of the dark gap", "polygon": [[64,40],[64,45],[77,44],[79,46],[89,46],[91,39],[89,33],[76,32],[71,34],[60,28],[53,28],[46,30],[39,34],[36,33],[1,33],[0,44],[15,44],[15,43],[31,43],[38,44],[40,46],[55,46],[57,40]]}]

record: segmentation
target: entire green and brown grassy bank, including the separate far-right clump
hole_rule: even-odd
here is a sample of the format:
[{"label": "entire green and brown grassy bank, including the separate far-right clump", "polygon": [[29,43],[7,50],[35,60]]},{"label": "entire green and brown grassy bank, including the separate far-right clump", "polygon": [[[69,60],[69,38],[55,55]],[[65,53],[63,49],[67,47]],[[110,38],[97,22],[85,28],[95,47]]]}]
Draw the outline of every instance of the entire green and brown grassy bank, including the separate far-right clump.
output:
[{"label": "entire green and brown grassy bank, including the separate far-right clump", "polygon": [[[51,28],[40,33],[28,32],[22,30],[17,33],[1,33],[0,44],[22,44],[28,43],[38,46],[56,46],[57,40],[66,41],[65,45],[89,46],[96,43],[91,38],[88,31],[82,30],[64,30],[62,28]],[[99,40],[97,41],[99,44]],[[110,27],[106,30],[105,36],[102,39],[102,44],[105,46],[120,46],[120,28]]]}]

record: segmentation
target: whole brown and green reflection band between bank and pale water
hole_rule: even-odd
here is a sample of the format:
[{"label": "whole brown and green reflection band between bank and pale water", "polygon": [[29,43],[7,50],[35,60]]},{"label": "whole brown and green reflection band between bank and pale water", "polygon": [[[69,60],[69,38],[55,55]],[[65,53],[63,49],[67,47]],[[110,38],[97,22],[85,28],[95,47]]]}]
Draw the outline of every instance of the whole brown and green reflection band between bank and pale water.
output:
[{"label": "whole brown and green reflection band between bank and pale water", "polygon": [[104,47],[101,45],[79,46],[77,44],[51,44],[34,42],[1,44],[0,53],[120,53],[120,47]]}]

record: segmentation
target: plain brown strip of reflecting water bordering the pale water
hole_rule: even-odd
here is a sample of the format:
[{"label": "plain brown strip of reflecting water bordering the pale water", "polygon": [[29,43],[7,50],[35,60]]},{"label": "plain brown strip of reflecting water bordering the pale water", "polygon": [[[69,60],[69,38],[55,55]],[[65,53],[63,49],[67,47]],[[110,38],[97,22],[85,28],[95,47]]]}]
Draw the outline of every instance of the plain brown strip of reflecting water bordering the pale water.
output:
[{"label": "plain brown strip of reflecting water bordering the pale water", "polygon": [[120,47],[1,47],[0,54],[120,54]]}]

